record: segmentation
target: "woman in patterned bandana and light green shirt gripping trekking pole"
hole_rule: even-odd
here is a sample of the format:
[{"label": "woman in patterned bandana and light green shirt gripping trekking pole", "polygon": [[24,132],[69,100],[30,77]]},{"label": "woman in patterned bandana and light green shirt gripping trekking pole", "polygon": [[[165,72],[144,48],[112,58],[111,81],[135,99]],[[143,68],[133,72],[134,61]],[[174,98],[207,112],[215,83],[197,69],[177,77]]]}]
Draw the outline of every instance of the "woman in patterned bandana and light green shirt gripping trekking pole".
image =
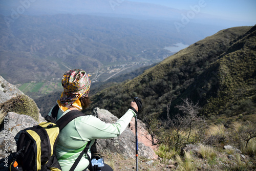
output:
[{"label": "woman in patterned bandana and light green shirt gripping trekking pole", "polygon": [[[91,80],[85,71],[79,69],[67,71],[62,77],[61,83],[64,91],[60,99],[57,100],[59,106],[57,119],[71,110],[81,111],[89,106],[91,101],[88,94]],[[118,137],[137,112],[138,106],[136,102],[132,101],[130,109],[115,124],[105,123],[92,115],[80,116],[68,123],[59,134],[55,150],[61,169],[63,171],[70,170],[87,143],[90,142],[91,148],[96,139]],[[88,154],[91,157],[90,148]],[[88,156],[84,154],[75,170],[86,170],[89,168],[89,164]],[[109,165],[104,165],[101,170],[113,170]]]}]

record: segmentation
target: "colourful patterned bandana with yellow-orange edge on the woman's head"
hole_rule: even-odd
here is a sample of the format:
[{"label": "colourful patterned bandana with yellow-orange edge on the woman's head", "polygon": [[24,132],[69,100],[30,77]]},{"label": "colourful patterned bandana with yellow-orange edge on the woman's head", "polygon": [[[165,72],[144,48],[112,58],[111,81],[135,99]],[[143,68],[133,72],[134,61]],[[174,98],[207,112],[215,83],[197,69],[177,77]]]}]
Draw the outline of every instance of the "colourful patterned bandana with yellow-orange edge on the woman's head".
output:
[{"label": "colourful patterned bandana with yellow-orange edge on the woman's head", "polygon": [[82,110],[80,97],[87,96],[91,86],[91,80],[85,71],[74,69],[67,71],[62,76],[62,92],[57,103],[62,111],[66,111],[71,106]]}]

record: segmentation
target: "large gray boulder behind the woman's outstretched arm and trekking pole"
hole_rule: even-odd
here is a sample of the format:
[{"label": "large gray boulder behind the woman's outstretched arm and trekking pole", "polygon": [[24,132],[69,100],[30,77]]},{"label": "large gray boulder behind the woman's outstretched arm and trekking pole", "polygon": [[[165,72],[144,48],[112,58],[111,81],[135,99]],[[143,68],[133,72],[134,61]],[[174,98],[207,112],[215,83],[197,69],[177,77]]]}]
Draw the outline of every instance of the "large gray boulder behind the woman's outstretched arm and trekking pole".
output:
[{"label": "large gray boulder behind the woman's outstretched arm and trekking pole", "polygon": [[[106,123],[115,123],[118,120],[118,118],[111,114],[109,111],[101,110],[99,108],[95,108],[92,112],[92,115],[98,117],[100,120]],[[141,126],[138,125],[138,128],[140,127]],[[146,146],[140,142],[140,139],[138,141],[139,156],[145,157],[147,159],[157,158],[157,155],[150,146]],[[109,149],[111,152],[122,154],[127,158],[135,157],[135,135],[128,126],[119,137],[111,139],[98,139],[94,145],[95,153],[100,153],[103,149]]]}]

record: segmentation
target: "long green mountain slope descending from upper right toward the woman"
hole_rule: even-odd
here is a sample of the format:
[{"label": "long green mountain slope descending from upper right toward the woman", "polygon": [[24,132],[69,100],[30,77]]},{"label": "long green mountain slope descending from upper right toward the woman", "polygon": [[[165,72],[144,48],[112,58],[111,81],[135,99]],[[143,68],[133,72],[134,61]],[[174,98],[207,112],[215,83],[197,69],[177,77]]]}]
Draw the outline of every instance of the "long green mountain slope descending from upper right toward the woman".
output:
[{"label": "long green mountain slope descending from upper right toward the woman", "polygon": [[203,115],[241,114],[245,106],[255,106],[255,42],[255,26],[219,31],[140,76],[97,93],[92,108],[120,116],[126,110],[123,104],[139,96],[144,114],[164,117],[171,100],[170,111],[176,114],[174,106],[188,97],[201,105]]}]

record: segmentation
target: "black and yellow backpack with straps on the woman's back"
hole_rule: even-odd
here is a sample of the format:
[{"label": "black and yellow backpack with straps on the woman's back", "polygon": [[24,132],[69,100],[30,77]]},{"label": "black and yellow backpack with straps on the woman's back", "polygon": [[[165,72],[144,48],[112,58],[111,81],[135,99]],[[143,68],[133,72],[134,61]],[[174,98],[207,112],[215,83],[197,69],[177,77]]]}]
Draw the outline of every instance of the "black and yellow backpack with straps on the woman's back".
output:
[{"label": "black and yellow backpack with straps on the woman's back", "polygon": [[[16,154],[10,165],[10,170],[61,170],[55,156],[55,146],[59,132],[70,121],[83,113],[72,110],[56,121],[59,106],[55,105],[51,116],[47,115],[47,122],[41,122],[20,133]],[[70,170],[74,170],[84,153],[88,152],[90,142],[87,143]]]}]

